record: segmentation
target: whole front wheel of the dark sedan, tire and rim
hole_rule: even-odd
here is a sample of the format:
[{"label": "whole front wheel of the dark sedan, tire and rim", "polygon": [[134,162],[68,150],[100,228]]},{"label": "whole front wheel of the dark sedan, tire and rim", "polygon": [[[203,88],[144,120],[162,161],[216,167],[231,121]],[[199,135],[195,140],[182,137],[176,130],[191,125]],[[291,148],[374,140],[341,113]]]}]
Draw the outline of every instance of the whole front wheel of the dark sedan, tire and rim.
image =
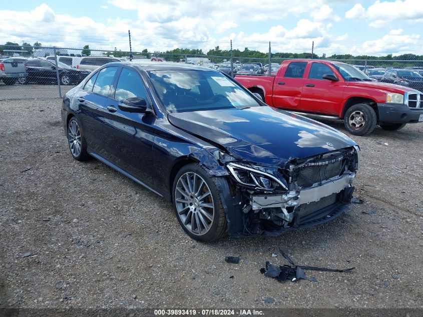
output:
[{"label": "whole front wheel of the dark sedan, tire and rim", "polygon": [[191,238],[211,242],[226,235],[226,214],[217,181],[198,164],[185,165],[176,174],[172,200],[179,224]]}]

